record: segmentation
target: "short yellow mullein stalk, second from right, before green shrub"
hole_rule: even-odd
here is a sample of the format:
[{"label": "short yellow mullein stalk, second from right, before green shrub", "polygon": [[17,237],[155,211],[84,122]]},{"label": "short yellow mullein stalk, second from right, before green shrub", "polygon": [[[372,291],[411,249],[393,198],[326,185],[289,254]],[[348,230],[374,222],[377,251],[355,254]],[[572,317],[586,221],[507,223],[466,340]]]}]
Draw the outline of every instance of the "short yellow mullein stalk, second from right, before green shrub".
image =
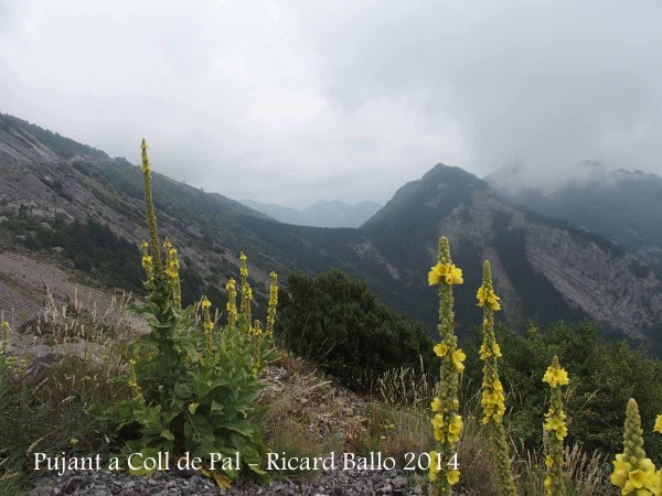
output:
[{"label": "short yellow mullein stalk, second from right, before green shrub", "polygon": [[543,429],[549,433],[548,453],[545,459],[546,476],[545,492],[549,496],[564,496],[566,494],[563,479],[564,450],[563,440],[568,434],[565,424],[565,412],[563,411],[563,401],[560,399],[560,386],[567,386],[570,381],[568,373],[558,365],[558,357],[555,356],[552,365],[545,371],[543,381],[549,385],[549,410],[545,414]]}]

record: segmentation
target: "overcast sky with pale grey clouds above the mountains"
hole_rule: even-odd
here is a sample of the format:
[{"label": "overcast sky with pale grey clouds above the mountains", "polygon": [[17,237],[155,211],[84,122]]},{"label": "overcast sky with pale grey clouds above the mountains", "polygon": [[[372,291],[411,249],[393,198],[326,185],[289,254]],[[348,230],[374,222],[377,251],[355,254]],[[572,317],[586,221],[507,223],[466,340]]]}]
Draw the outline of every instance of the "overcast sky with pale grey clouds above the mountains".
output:
[{"label": "overcast sky with pale grey clouds above the mountains", "polygon": [[438,162],[660,174],[662,3],[0,0],[0,111],[296,206]]}]

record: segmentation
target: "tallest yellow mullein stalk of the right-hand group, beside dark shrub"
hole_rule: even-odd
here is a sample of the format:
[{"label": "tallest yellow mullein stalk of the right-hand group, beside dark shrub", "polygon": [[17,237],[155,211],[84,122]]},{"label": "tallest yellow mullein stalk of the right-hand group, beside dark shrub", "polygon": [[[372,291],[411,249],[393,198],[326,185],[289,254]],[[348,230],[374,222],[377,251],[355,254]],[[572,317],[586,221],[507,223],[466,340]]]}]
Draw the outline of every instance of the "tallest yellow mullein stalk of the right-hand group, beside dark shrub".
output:
[{"label": "tallest yellow mullein stalk of the right-hand group, beside dark shrub", "polygon": [[450,495],[451,488],[460,479],[456,446],[462,431],[462,417],[459,414],[459,377],[465,371],[467,356],[457,347],[455,334],[452,287],[461,284],[462,270],[450,259],[448,238],[439,239],[438,261],[428,273],[429,285],[439,285],[439,343],[434,352],[441,359],[437,393],[431,403],[433,431],[438,449],[430,452],[429,479],[433,494]]}]

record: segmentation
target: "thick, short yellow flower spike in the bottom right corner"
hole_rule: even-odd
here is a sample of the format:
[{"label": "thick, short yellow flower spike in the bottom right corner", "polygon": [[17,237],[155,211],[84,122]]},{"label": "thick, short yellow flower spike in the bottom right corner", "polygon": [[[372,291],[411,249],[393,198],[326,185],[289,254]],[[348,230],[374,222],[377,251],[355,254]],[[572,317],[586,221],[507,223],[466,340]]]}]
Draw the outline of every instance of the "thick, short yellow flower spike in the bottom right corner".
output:
[{"label": "thick, short yellow flower spike in the bottom right corner", "polygon": [[[659,425],[660,423],[660,425]],[[658,417],[655,430],[662,431]],[[630,398],[626,410],[623,452],[616,455],[611,484],[620,487],[623,496],[650,496],[662,494],[662,473],[655,472],[651,459],[643,451],[643,430],[637,401]]]}]

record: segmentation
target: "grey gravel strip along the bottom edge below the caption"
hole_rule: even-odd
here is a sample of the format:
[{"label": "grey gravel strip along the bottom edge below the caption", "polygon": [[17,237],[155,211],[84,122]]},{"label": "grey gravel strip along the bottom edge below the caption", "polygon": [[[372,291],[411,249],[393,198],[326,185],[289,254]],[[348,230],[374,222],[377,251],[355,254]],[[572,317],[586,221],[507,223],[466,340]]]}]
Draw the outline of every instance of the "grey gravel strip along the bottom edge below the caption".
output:
[{"label": "grey gravel strip along the bottom edge below the caption", "polygon": [[402,471],[330,471],[318,477],[285,477],[268,484],[244,485],[224,490],[197,474],[157,472],[150,477],[134,477],[109,472],[67,472],[61,477],[39,479],[30,496],[414,496],[420,487],[409,487]]}]

